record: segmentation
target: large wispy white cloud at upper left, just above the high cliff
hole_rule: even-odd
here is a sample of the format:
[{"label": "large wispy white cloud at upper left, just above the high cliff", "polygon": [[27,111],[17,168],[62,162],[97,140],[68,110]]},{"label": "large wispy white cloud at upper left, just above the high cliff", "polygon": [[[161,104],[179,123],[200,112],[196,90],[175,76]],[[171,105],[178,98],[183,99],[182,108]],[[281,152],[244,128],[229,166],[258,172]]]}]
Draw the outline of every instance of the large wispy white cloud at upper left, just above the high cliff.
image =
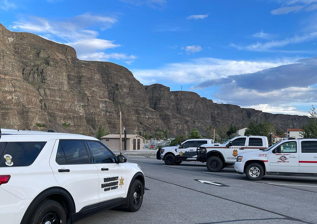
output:
[{"label": "large wispy white cloud at upper left, just above the high cliff", "polygon": [[[118,21],[113,16],[100,16],[84,13],[63,21],[50,21],[36,16],[25,16],[13,22],[12,29],[36,33],[45,39],[57,40],[76,49],[81,60],[109,61],[123,60],[132,63],[137,57],[125,53],[102,52],[121,47],[114,41],[97,38],[98,31],[90,29],[98,26],[101,30],[110,28]],[[56,41],[55,41],[56,42]]]}]

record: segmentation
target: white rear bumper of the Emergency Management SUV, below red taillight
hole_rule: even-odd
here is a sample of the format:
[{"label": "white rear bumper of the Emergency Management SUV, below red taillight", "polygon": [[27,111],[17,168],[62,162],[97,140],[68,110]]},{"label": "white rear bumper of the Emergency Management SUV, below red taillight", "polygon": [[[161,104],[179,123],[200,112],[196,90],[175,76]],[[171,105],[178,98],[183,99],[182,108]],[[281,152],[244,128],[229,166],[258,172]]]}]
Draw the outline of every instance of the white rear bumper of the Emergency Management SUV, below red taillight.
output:
[{"label": "white rear bumper of the Emergency Management SUV, below red taillight", "polygon": [[6,223],[20,224],[31,199],[20,199],[0,187],[0,217],[6,217]]}]

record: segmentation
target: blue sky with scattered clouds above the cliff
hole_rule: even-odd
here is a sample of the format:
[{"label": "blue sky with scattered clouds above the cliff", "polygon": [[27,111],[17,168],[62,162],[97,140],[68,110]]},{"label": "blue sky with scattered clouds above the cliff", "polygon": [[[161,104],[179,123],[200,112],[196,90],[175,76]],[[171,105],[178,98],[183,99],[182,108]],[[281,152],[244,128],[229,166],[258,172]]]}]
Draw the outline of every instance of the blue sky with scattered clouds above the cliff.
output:
[{"label": "blue sky with scattered clouds above the cliff", "polygon": [[317,101],[317,0],[0,0],[0,23],[217,103],[306,115]]}]

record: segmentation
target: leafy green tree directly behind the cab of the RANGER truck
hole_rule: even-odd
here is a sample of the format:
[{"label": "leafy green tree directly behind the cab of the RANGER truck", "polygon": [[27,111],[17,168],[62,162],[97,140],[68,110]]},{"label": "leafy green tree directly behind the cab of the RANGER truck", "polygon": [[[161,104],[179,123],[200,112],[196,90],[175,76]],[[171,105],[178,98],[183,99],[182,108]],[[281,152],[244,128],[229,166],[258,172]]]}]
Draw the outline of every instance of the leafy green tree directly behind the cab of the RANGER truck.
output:
[{"label": "leafy green tree directly behind the cab of the RANGER truck", "polygon": [[248,128],[245,130],[244,135],[259,135],[266,136],[269,138],[270,133],[275,134],[274,124],[259,122],[256,123],[251,121]]}]

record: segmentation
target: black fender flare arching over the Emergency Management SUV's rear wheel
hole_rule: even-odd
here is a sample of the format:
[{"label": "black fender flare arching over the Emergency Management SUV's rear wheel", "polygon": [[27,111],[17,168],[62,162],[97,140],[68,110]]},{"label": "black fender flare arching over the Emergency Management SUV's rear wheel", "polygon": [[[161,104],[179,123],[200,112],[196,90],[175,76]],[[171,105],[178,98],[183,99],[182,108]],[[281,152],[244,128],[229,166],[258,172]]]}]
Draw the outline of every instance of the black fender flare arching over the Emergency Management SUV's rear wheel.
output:
[{"label": "black fender flare arching over the Emergency Management SUV's rear wheel", "polygon": [[68,207],[69,207],[69,217],[71,217],[71,214],[74,214],[76,212],[76,206],[74,199],[72,195],[66,190],[61,187],[51,187],[48,189],[43,190],[40,194],[38,194],[33,201],[30,203],[29,207],[26,209],[23,218],[21,220],[20,224],[29,223],[29,219],[31,217],[31,214],[33,213],[36,206],[43,201],[43,199],[47,198],[50,195],[62,195],[67,199]]}]

